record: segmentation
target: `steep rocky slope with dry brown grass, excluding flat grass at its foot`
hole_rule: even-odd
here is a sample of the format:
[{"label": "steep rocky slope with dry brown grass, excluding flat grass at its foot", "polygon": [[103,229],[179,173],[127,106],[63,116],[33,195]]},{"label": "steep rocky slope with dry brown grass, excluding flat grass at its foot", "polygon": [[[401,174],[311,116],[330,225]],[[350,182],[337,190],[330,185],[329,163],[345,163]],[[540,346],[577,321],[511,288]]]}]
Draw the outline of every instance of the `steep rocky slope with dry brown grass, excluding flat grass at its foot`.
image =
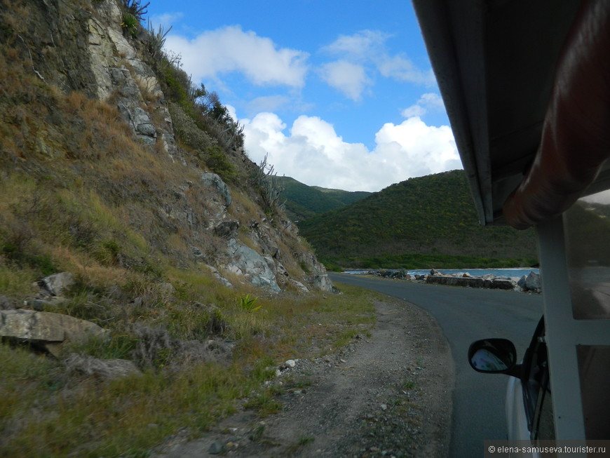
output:
[{"label": "steep rocky slope with dry brown grass, excluding flat grass at its foot", "polygon": [[329,290],[215,93],[131,0],[2,1],[0,270],[129,290],[214,276]]}]

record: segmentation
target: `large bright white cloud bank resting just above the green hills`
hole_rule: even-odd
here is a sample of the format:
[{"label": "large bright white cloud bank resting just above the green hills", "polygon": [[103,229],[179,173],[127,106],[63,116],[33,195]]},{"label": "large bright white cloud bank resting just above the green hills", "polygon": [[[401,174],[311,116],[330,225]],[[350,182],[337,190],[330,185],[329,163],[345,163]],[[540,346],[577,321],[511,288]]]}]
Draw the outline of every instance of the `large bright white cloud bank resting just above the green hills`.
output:
[{"label": "large bright white cloud bank resting just above the green hills", "polygon": [[309,185],[379,191],[409,177],[461,168],[451,129],[427,126],[418,117],[384,124],[372,151],[361,143],[344,142],[332,124],[316,116],[299,116],[289,132],[273,113],[241,122],[253,161],[267,154],[278,175]]}]

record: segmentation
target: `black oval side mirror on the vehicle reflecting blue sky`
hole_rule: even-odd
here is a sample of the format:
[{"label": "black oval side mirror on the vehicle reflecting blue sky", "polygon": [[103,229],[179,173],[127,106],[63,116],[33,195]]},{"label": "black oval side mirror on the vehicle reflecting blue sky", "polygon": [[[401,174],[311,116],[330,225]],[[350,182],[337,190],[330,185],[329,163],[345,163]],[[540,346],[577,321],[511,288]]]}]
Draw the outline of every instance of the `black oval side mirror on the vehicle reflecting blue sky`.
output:
[{"label": "black oval side mirror on the vehicle reflecting blue sky", "polygon": [[519,377],[517,350],[513,342],[507,339],[483,339],[473,342],[468,349],[468,363],[477,372]]}]

